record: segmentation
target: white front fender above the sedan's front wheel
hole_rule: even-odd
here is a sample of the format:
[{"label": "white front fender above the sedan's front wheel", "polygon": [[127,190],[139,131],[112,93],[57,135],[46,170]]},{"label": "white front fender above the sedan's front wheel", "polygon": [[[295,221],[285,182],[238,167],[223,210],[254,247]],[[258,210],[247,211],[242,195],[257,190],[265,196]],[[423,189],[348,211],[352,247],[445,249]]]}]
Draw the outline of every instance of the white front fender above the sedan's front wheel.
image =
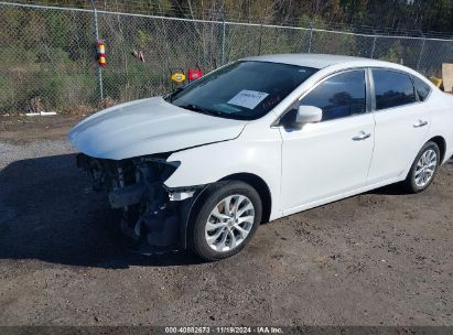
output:
[{"label": "white front fender above the sedan's front wheel", "polygon": [[250,173],[261,177],[268,185],[272,208],[270,219],[280,214],[281,137],[278,129],[254,131],[247,126],[242,134],[231,141],[218,142],[179,151],[168,161],[181,165],[165,181],[170,188],[190,187],[215,183],[228,175]]}]

